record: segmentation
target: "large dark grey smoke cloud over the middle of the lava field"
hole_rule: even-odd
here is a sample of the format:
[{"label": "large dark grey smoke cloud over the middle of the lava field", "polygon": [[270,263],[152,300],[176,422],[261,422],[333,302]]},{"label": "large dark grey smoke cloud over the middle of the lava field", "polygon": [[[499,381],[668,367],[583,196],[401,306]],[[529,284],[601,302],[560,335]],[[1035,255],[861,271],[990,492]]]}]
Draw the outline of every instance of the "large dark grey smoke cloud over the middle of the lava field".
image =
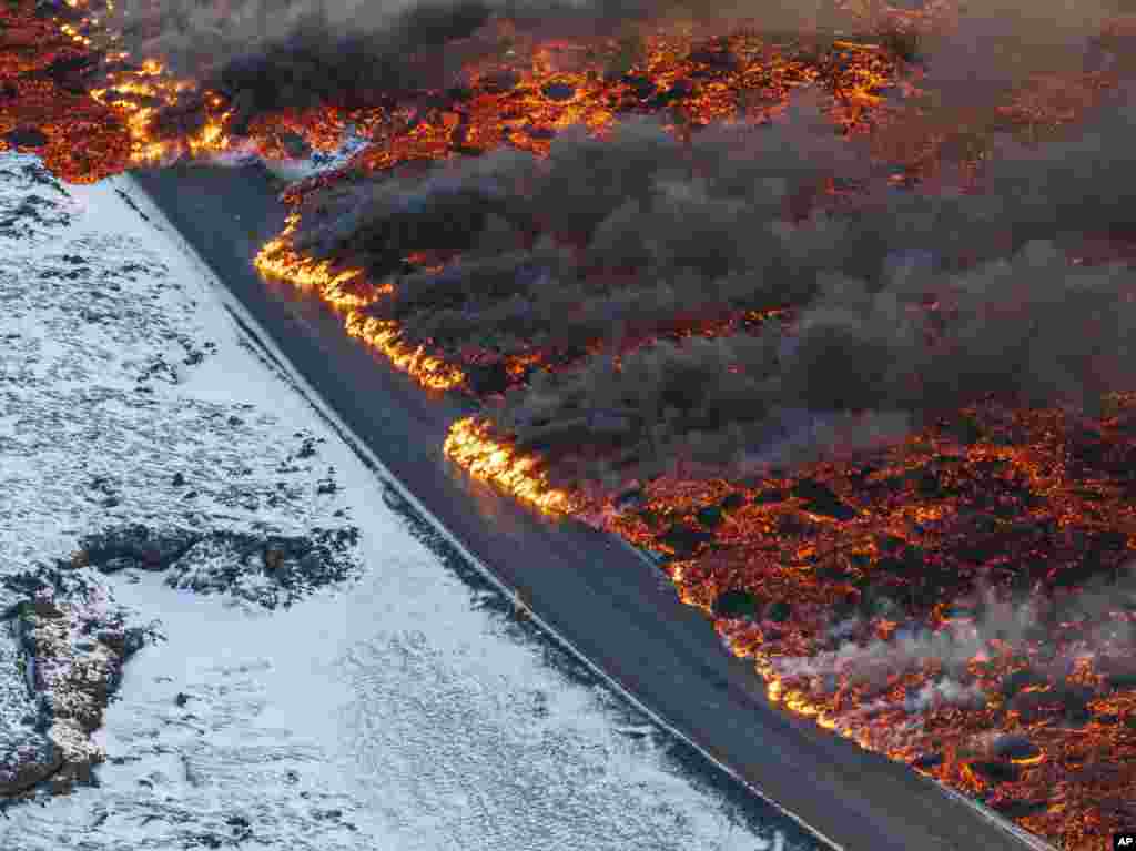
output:
[{"label": "large dark grey smoke cloud over the middle of the lava field", "polygon": [[1136,386],[1136,273],[1062,251],[1083,232],[1127,233],[1134,117],[1109,105],[1079,139],[1003,140],[982,195],[889,191],[807,218],[800,199],[825,180],[874,170],[808,99],[785,124],[690,147],[632,120],[607,141],[566,133],[543,162],[502,151],[317,194],[296,245],[376,276],[416,250],[465,252],[369,309],[451,357],[579,357],[676,316],[792,307],[792,332],[663,341],[620,368],[592,356],[493,414],[524,448],[618,448],[627,475],[675,457],[791,461],[894,440],[991,393],[1092,412]]}]

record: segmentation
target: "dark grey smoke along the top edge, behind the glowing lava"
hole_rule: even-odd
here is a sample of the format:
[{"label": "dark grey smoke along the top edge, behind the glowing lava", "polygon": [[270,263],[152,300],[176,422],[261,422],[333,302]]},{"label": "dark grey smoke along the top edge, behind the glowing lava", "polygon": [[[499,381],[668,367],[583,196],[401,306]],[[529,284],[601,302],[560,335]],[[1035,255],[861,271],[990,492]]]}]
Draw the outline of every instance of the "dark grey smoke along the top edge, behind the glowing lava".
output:
[{"label": "dark grey smoke along the top edge, behind the glowing lava", "polygon": [[134,57],[158,58],[258,115],[327,105],[384,106],[460,87],[470,62],[507,49],[491,22],[533,35],[608,34],[655,14],[641,0],[123,0],[108,16]]}]

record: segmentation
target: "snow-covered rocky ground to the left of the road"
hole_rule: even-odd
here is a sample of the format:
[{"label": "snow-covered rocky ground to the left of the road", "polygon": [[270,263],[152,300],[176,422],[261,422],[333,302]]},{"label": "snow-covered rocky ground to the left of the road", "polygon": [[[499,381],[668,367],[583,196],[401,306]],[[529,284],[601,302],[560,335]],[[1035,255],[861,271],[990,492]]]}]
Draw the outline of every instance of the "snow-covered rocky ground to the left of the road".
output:
[{"label": "snow-covered rocky ground to the left of the road", "polygon": [[[73,678],[125,628],[83,636],[91,610],[156,627],[105,726],[64,742],[105,756],[94,782],[8,806],[0,848],[813,846],[518,620],[128,180],[62,186],[0,155],[0,612],[37,587],[67,614],[30,623],[57,625]],[[99,556],[92,535],[136,524],[176,547]],[[57,735],[19,623],[0,760]]]}]

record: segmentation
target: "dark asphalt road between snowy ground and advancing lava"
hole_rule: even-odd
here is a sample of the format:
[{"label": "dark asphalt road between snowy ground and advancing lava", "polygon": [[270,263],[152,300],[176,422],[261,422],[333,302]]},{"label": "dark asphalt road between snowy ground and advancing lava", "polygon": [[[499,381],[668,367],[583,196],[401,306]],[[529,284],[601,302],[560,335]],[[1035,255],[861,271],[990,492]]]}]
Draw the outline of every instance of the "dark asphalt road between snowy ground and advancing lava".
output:
[{"label": "dark asphalt road between snowy ground and advancing lava", "polygon": [[854,851],[1021,851],[1019,836],[932,781],[775,707],[669,581],[612,536],[550,520],[442,454],[460,406],[431,398],[251,258],[284,210],[259,167],[134,178],[292,366],[467,550],[593,665],[761,794]]}]

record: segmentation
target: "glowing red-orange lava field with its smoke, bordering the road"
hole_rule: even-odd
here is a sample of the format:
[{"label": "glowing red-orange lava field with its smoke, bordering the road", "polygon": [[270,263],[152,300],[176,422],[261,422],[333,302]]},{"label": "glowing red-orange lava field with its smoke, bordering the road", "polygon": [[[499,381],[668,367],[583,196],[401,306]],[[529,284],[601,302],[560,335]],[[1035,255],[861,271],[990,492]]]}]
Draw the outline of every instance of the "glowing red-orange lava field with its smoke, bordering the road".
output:
[{"label": "glowing red-orange lava field with its smoke, bordering the road", "polygon": [[448,457],[1080,851],[1136,824],[1134,11],[22,0],[0,131],[350,151],[256,264],[473,411]]}]

